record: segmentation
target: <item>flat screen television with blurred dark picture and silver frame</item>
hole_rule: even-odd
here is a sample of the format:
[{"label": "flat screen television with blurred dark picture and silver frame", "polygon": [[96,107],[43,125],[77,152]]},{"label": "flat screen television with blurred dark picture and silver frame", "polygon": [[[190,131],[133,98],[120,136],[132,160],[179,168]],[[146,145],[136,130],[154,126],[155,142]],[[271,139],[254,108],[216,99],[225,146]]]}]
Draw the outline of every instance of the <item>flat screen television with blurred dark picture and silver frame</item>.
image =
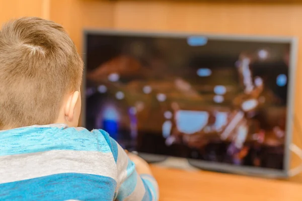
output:
[{"label": "flat screen television with blurred dark picture and silver frame", "polygon": [[294,38],[84,34],[83,126],[149,162],[286,176]]}]

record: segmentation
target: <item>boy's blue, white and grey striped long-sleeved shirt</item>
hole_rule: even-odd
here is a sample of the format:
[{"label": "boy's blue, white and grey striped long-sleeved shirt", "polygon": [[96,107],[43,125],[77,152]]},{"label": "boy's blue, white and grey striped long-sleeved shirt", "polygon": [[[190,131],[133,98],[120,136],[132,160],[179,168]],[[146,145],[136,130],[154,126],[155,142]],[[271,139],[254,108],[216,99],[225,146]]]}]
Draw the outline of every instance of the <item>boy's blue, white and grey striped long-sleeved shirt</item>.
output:
[{"label": "boy's blue, white and grey striped long-sleeved shirt", "polygon": [[0,132],[0,200],[158,200],[151,175],[138,175],[103,130],[65,125]]}]

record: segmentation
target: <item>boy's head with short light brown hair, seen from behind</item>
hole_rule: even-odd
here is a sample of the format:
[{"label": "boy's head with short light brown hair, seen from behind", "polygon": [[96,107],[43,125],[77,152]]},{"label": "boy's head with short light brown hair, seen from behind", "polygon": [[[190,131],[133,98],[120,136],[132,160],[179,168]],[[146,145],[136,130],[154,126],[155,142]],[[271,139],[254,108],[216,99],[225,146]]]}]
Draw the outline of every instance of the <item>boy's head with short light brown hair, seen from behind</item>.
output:
[{"label": "boy's head with short light brown hair, seen from behind", "polygon": [[0,31],[0,130],[77,126],[83,61],[61,25],[21,18]]}]

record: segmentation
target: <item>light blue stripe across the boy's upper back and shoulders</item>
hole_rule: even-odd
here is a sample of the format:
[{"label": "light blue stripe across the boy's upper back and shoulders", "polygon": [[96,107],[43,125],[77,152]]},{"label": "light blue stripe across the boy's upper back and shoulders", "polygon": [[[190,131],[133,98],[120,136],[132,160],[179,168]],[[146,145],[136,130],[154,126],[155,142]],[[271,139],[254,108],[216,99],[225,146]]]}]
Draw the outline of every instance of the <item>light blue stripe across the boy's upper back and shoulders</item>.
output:
[{"label": "light blue stripe across the boy's upper back and shoulders", "polygon": [[106,139],[97,130],[25,127],[1,132],[0,141],[0,156],[50,150],[111,152]]}]

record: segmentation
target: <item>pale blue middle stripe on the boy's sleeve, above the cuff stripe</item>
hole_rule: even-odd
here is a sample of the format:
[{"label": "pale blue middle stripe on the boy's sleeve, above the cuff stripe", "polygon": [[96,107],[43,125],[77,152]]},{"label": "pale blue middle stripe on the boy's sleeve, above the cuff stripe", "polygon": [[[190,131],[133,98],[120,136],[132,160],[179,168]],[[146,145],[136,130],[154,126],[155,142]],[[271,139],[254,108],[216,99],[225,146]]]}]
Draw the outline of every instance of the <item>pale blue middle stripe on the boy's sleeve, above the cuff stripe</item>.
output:
[{"label": "pale blue middle stripe on the boy's sleeve, above the cuff stripe", "polygon": [[135,189],[137,184],[137,172],[135,170],[134,163],[128,159],[128,166],[127,166],[127,179],[121,184],[117,199],[124,200],[128,197]]}]

